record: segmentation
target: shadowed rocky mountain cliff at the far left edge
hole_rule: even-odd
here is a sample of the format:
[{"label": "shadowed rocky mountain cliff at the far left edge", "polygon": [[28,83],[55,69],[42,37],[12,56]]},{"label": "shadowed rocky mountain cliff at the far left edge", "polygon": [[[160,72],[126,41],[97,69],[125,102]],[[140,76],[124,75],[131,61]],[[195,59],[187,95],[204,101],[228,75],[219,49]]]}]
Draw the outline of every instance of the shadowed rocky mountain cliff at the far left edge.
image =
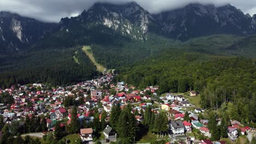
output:
[{"label": "shadowed rocky mountain cliff at the far left edge", "polygon": [[0,12],[0,52],[16,52],[25,49],[45,33],[53,31],[57,24],[39,22],[18,14]]}]

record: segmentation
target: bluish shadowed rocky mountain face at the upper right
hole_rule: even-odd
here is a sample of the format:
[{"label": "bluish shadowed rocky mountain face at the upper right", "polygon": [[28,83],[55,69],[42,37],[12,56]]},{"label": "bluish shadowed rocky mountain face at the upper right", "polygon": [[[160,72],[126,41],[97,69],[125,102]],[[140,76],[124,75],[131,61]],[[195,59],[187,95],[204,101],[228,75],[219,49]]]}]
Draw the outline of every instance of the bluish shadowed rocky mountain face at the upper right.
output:
[{"label": "bluish shadowed rocky mountain face at the upper right", "polygon": [[189,4],[184,8],[154,15],[162,29],[172,38],[188,40],[211,34],[253,34],[255,18],[244,15],[232,5]]}]

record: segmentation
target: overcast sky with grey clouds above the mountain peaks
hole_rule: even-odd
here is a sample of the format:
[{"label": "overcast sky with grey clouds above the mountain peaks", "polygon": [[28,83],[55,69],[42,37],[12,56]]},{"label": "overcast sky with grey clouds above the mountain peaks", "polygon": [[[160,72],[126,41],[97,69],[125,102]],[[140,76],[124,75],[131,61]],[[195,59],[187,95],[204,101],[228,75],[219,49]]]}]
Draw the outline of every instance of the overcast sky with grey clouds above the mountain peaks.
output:
[{"label": "overcast sky with grey clouds above the mountain peaks", "polygon": [[[0,0],[0,11],[11,11],[41,21],[59,22],[62,17],[77,16],[95,2],[126,3],[130,0]],[[256,14],[255,0],[133,0],[150,13],[181,8],[199,2],[217,6],[230,3],[243,13]]]}]

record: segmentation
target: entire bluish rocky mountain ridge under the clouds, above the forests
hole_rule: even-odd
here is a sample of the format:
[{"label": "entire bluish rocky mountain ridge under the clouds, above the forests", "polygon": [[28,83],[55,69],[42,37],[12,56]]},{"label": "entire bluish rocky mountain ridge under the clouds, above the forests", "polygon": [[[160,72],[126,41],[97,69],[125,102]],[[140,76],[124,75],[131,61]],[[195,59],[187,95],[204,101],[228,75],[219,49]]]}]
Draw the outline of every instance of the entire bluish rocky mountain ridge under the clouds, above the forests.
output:
[{"label": "entire bluish rocky mountain ridge under the clouds, above the forests", "polygon": [[[81,31],[85,33],[81,33]],[[119,35],[145,41],[149,35],[187,41],[212,34],[250,35],[256,33],[256,15],[243,14],[232,5],[189,4],[183,8],[150,14],[135,2],[126,4],[95,3],[77,17],[63,18],[59,23],[45,23],[9,12],[0,13],[1,52],[30,47],[45,35],[79,33]],[[106,36],[106,35],[105,35]],[[62,39],[62,38],[61,38]],[[63,39],[62,39],[63,40]],[[75,44],[71,42],[70,45]]]}]

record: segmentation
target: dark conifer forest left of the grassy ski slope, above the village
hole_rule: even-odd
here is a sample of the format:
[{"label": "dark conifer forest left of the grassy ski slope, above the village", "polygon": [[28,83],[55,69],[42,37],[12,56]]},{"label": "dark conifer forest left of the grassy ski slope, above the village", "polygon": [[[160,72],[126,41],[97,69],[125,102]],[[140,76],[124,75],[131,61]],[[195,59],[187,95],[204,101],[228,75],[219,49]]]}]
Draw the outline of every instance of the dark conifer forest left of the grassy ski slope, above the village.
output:
[{"label": "dark conifer forest left of the grassy ski slope, above the village", "polygon": [[[8,68],[3,65],[0,68],[0,87],[34,82],[61,86],[93,79],[99,73],[80,48],[37,51],[30,53],[31,57],[14,61]],[[78,59],[79,64],[73,56]]]}]

